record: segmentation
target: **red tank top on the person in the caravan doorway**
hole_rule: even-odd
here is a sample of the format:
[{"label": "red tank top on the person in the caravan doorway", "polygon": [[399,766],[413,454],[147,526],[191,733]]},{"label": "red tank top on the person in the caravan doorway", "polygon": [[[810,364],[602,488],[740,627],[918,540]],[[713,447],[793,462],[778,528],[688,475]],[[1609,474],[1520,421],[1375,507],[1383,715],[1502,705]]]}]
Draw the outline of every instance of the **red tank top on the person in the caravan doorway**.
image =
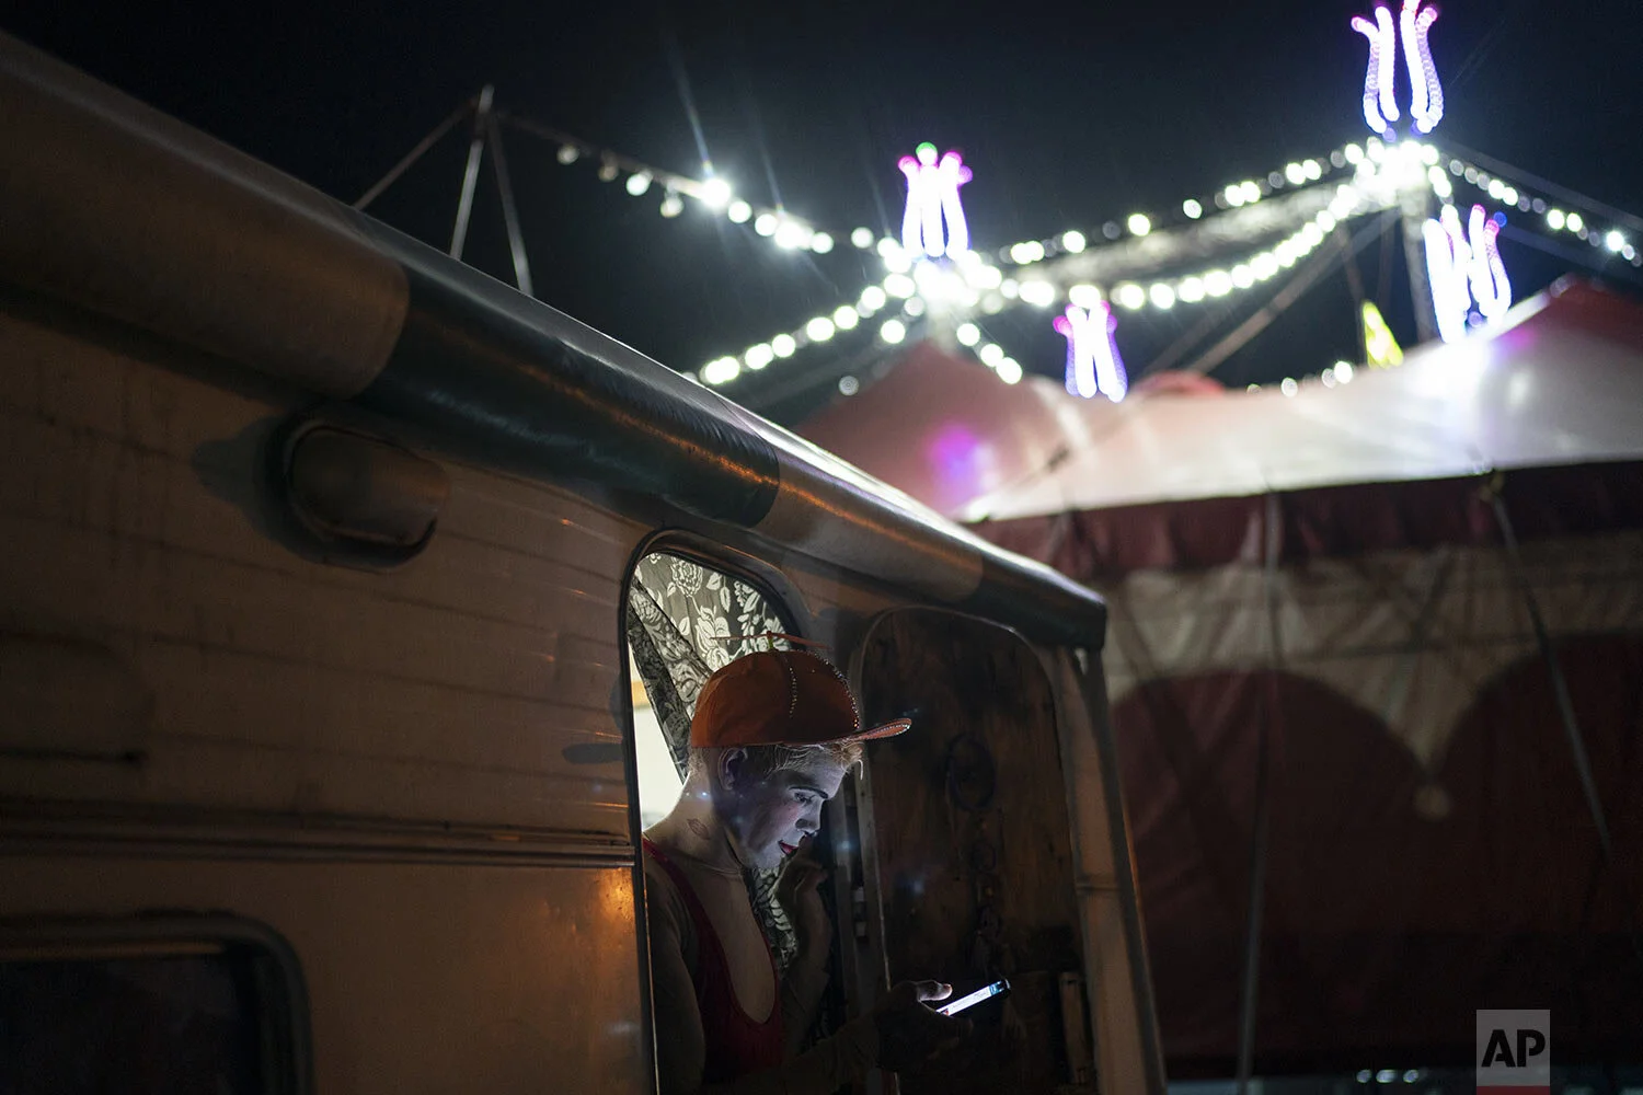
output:
[{"label": "red tank top on the person in the caravan doorway", "polygon": [[738,1077],[775,1069],[782,1064],[782,983],[775,975],[775,955],[771,954],[769,941],[764,944],[764,952],[771,959],[775,1000],[771,1005],[771,1016],[764,1023],[754,1023],[741,1010],[741,1001],[736,1000],[736,987],[729,978],[729,962],[725,959],[725,944],[713,931],[697,891],[690,888],[683,872],[649,839],[644,842],[644,852],[674,880],[679,895],[685,900],[685,908],[690,909],[690,923],[697,929],[697,1010],[702,1013],[702,1034],[706,1039],[706,1064],[702,1070],[702,1082],[726,1084]]}]

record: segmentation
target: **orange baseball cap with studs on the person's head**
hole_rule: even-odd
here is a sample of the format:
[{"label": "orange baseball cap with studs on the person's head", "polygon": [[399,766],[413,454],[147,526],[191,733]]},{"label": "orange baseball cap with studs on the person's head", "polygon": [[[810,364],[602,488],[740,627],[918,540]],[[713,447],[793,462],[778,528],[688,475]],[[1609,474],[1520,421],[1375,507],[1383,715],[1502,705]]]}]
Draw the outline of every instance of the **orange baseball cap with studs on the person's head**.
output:
[{"label": "orange baseball cap with studs on the person's head", "polygon": [[803,650],[759,650],[736,658],[702,686],[690,744],[823,745],[892,737],[912,724],[895,719],[864,731],[856,698],[830,662]]}]

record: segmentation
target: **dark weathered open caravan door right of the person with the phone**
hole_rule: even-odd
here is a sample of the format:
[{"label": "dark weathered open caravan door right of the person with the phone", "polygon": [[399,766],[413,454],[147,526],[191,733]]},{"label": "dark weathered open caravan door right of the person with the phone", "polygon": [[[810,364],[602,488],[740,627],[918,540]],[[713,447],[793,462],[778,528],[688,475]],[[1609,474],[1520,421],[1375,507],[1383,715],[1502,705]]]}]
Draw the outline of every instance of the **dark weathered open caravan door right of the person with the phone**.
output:
[{"label": "dark weathered open caravan door right of the person with the phone", "polygon": [[868,918],[869,952],[884,983],[1012,987],[966,1013],[966,1046],[904,1074],[900,1090],[1093,1090],[1078,859],[1038,655],[979,619],[897,609],[869,629],[858,673],[869,724],[914,719],[871,744],[861,780],[864,905],[881,911]]}]

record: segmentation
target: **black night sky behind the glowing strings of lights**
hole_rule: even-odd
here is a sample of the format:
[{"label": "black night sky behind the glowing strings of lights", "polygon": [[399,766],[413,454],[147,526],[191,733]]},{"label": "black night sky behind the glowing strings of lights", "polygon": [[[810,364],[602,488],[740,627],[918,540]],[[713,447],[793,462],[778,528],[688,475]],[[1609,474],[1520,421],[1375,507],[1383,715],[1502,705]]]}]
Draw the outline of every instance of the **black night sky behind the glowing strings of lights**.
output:
[{"label": "black night sky behind the glowing strings of lights", "polygon": [[[1431,39],[1447,115],[1434,140],[1643,210],[1643,3],[1439,7]],[[960,148],[974,169],[964,205],[981,250],[1068,228],[1099,240],[1104,222],[1178,215],[1185,197],[1362,141],[1364,39],[1347,21],[1369,8],[8,0],[0,28],[345,202],[486,82],[513,113],[698,176],[685,87],[718,174],[831,230],[838,250],[779,251],[695,202],[664,220],[657,189],[629,197],[588,159],[565,167],[550,144],[511,131],[506,141],[536,296],[693,371],[884,276],[843,236],[899,223],[895,159],[918,141]],[[445,138],[371,212],[444,248],[465,153],[467,133]],[[1518,297],[1574,269],[1643,294],[1640,271],[1564,240],[1549,243],[1559,253],[1503,243]],[[511,279],[490,174],[467,258]],[[1385,259],[1370,246],[1359,271],[1408,345],[1401,245]],[[1236,294],[1216,335],[1275,287]],[[1204,314],[1124,314],[1132,371]],[[874,353],[869,327],[725,391],[794,422],[840,397],[838,378]],[[1065,343],[1048,314],[1017,309],[989,335],[1029,371],[1060,376]],[[1216,376],[1237,386],[1303,376],[1355,356],[1355,343],[1347,279],[1334,274]]]}]

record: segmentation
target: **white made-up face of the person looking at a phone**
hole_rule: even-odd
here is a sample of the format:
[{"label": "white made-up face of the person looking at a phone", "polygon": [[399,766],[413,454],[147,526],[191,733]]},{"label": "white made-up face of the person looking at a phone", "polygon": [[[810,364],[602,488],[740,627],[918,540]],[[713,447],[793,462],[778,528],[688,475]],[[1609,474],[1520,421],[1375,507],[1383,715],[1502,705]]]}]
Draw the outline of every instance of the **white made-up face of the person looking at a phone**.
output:
[{"label": "white made-up face of the person looking at a phone", "polygon": [[721,757],[715,809],[743,865],[771,870],[822,827],[822,806],[838,795],[845,767],[818,755],[803,768],[751,777],[744,760],[739,749]]}]

